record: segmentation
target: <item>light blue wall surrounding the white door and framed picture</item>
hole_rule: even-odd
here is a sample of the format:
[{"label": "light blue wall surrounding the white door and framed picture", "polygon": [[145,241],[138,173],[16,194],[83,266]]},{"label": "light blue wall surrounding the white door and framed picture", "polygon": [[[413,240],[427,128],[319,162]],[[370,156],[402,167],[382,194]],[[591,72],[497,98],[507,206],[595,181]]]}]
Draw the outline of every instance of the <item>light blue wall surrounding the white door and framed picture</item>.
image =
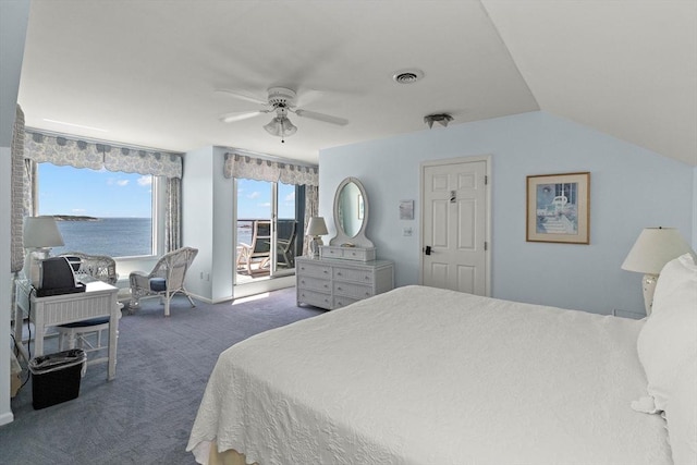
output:
[{"label": "light blue wall surrounding the white door and framed picture", "polygon": [[[320,213],[331,228],[334,189],[344,178],[358,178],[378,256],[395,261],[396,285],[417,283],[420,163],[482,155],[492,158],[494,297],[599,314],[643,311],[641,277],[620,268],[641,229],[673,227],[694,241],[694,167],[546,112],[322,150]],[[526,175],[575,171],[591,172],[590,245],[525,242]],[[399,219],[402,199],[416,200],[415,220]],[[405,227],[413,236],[402,235]]]}]

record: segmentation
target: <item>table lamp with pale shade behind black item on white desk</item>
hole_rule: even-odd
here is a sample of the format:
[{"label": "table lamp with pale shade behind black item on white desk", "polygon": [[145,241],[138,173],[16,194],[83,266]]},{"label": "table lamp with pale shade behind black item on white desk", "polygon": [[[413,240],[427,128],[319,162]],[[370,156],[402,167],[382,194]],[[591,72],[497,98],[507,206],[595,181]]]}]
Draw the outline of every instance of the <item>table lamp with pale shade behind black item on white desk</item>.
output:
[{"label": "table lamp with pale shade behind black item on white desk", "polygon": [[26,249],[24,276],[32,281],[34,287],[38,289],[40,285],[40,261],[48,258],[51,247],[60,247],[65,244],[53,217],[24,217],[24,235],[22,237]]}]

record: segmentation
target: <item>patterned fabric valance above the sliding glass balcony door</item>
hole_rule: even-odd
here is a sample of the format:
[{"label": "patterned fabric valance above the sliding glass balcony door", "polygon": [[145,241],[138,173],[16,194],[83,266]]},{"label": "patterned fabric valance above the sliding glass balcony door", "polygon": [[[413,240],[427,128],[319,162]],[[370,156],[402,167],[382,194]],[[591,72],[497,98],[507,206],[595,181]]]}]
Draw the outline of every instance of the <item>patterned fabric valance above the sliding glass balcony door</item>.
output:
[{"label": "patterned fabric valance above the sliding glass balcony door", "polygon": [[283,184],[316,186],[319,184],[317,167],[265,160],[241,154],[225,154],[225,178],[282,182]]}]

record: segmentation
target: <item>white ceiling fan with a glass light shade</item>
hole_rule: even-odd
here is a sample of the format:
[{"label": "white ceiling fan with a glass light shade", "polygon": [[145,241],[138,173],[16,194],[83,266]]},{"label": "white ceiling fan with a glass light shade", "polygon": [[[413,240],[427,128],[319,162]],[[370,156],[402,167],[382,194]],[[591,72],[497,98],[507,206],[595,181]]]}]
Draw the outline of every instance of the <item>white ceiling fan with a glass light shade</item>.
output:
[{"label": "white ceiling fan with a glass light shade", "polygon": [[264,129],[271,135],[281,137],[281,142],[285,142],[285,137],[291,136],[297,132],[297,127],[288,119],[288,113],[295,113],[301,118],[308,118],[310,120],[321,121],[325,123],[337,124],[344,126],[348,124],[348,120],[343,118],[332,117],[325,113],[318,113],[316,111],[305,110],[296,107],[295,90],[286,87],[270,87],[268,89],[267,100],[257,99],[243,94],[237,94],[229,89],[218,89],[220,93],[228,94],[232,97],[241,100],[250,101],[264,106],[259,110],[254,111],[235,111],[232,113],[225,113],[220,117],[220,121],[223,123],[233,123],[236,121],[247,120],[249,118],[257,117],[264,113],[276,113],[273,120],[269,124],[266,124]]}]

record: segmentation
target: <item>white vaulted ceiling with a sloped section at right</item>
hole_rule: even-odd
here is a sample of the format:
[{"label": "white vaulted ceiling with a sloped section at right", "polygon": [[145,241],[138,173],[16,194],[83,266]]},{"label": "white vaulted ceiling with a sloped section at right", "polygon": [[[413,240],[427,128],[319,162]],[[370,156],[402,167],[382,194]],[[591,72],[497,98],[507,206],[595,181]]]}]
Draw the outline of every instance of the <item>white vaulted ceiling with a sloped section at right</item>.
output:
[{"label": "white vaulted ceiling with a sloped section at right", "polygon": [[[219,120],[271,86],[348,123],[290,113],[282,144],[272,113]],[[697,2],[32,0],[19,101],[45,131],[309,162],[430,113],[543,110],[697,166]]]}]

